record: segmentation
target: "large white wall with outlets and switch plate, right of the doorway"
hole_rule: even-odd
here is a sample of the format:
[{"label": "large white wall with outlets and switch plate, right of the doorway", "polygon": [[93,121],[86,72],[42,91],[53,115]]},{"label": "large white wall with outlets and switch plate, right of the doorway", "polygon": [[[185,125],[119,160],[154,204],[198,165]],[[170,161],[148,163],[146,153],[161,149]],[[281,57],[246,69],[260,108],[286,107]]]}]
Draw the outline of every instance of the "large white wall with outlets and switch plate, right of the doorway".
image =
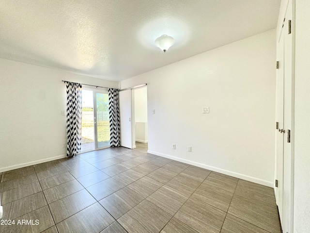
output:
[{"label": "large white wall with outlets and switch plate, right of the doorway", "polygon": [[272,187],[275,61],[271,30],[125,80],[121,88],[148,83],[149,152]]}]

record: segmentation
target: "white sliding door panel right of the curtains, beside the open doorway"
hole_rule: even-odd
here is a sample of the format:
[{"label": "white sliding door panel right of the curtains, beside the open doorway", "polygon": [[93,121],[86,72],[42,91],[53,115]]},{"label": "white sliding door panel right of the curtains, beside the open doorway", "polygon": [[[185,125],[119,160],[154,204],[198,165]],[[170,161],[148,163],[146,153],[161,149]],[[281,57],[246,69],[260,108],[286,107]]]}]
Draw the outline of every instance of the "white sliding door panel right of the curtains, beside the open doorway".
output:
[{"label": "white sliding door panel right of the curtains, beside the open doorway", "polygon": [[120,91],[120,133],[121,146],[132,149],[132,121],[131,121],[131,90]]}]

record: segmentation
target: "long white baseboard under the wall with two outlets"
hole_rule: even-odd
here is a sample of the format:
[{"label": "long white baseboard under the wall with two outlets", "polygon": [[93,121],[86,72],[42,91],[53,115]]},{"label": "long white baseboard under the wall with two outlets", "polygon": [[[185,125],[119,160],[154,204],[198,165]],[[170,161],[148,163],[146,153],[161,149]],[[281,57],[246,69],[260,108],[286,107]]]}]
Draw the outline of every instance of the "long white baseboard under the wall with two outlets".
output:
[{"label": "long white baseboard under the wall with two outlets", "polygon": [[159,152],[152,151],[152,150],[148,150],[147,152],[150,153],[150,154],[155,154],[155,155],[158,155],[158,156],[161,156],[161,157],[165,157],[165,158],[168,158],[168,159],[176,160],[176,161],[179,161],[179,162],[182,162],[182,163],[186,163],[186,164],[202,167],[202,168],[205,168],[205,169],[208,169],[208,170],[211,170],[211,171],[216,171],[216,172],[219,172],[219,173],[222,173],[222,174],[225,174],[225,175],[228,175],[228,176],[233,176],[233,177],[236,177],[236,178],[239,178],[239,179],[242,179],[242,180],[246,180],[246,181],[249,181],[249,182],[262,184],[262,185],[265,185],[265,186],[268,186],[268,187],[271,187],[271,188],[274,187],[274,183],[269,182],[269,181],[265,181],[265,180],[262,180],[262,179],[259,179],[259,178],[256,178],[256,177],[240,174],[240,173],[233,172],[233,171],[228,171],[228,170],[221,169],[221,168],[214,167],[214,166],[208,166],[208,165],[197,163],[197,162],[194,162],[194,161],[191,161],[191,160],[187,160],[187,159],[181,159],[181,158],[178,158],[178,157],[174,157],[174,156],[171,156],[171,155],[168,155],[168,154],[159,153]]}]

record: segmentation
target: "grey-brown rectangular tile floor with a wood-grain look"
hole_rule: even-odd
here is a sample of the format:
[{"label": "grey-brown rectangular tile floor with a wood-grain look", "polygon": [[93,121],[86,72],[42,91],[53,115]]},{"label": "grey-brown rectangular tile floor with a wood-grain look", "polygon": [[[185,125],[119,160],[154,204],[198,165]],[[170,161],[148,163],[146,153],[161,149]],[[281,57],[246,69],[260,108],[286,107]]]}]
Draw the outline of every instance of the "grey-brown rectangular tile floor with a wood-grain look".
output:
[{"label": "grey-brown rectangular tile floor with a wood-grain look", "polygon": [[280,233],[272,188],[142,143],[0,173],[0,193],[1,233]]}]

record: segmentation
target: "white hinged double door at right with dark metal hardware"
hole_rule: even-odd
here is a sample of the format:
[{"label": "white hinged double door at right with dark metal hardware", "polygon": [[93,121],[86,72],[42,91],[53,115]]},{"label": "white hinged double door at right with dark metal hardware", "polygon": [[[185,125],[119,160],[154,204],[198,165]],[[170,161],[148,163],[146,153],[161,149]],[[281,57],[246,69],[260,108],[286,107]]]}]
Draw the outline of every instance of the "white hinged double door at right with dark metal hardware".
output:
[{"label": "white hinged double door at right with dark metal hardware", "polygon": [[[278,42],[279,70],[277,73],[277,205],[281,227],[293,233],[294,151],[294,82],[292,44],[292,1],[289,0]],[[291,136],[290,136],[291,135]],[[290,140],[288,140],[290,138]]]}]

